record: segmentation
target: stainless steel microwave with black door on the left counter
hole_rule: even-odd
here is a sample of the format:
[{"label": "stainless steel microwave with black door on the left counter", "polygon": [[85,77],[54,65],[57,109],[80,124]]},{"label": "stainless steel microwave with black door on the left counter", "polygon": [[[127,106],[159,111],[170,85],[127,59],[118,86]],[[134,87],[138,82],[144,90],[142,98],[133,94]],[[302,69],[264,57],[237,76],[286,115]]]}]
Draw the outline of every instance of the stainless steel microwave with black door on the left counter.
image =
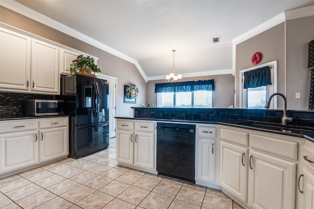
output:
[{"label": "stainless steel microwave with black door on the left counter", "polygon": [[64,115],[63,100],[25,100],[25,115]]}]

